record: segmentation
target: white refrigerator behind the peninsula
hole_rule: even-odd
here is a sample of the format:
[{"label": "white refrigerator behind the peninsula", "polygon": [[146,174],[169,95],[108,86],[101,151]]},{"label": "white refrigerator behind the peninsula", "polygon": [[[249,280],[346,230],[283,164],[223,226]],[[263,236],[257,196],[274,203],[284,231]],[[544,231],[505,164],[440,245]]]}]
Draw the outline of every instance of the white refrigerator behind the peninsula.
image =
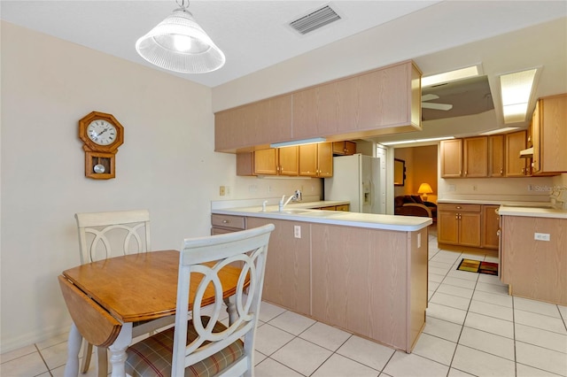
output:
[{"label": "white refrigerator behind the peninsula", "polygon": [[348,200],[351,212],[385,213],[380,158],[357,153],[333,158],[333,176],[325,178],[325,200]]}]

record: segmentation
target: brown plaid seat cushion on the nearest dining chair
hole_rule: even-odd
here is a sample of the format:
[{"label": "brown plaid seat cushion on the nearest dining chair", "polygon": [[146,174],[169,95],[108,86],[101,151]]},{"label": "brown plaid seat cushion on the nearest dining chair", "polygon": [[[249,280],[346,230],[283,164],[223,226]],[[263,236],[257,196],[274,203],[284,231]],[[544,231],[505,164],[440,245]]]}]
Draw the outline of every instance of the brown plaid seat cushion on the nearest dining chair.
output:
[{"label": "brown plaid seat cushion on the nearest dining chair", "polygon": [[[203,317],[205,319],[205,317]],[[204,320],[205,323],[208,319]],[[226,327],[217,322],[214,332],[221,332]],[[126,360],[126,373],[133,377],[146,376],[171,376],[171,358],[174,348],[174,330],[171,327],[159,334],[152,335],[142,342],[128,347]],[[192,321],[187,327],[187,342],[197,337]],[[185,368],[185,376],[214,376],[227,366],[231,365],[244,356],[244,344],[238,340],[227,348],[220,350],[210,358],[199,361]]]}]

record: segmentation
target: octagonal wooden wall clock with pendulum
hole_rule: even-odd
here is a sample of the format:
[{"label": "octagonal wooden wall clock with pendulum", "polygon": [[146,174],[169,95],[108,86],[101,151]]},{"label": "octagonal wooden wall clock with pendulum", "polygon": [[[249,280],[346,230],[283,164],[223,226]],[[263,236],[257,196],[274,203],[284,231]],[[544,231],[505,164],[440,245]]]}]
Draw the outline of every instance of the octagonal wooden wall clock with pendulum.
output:
[{"label": "octagonal wooden wall clock with pendulum", "polygon": [[116,176],[118,147],[124,142],[124,127],[105,112],[90,112],[79,120],[79,138],[85,151],[85,176],[109,180]]}]

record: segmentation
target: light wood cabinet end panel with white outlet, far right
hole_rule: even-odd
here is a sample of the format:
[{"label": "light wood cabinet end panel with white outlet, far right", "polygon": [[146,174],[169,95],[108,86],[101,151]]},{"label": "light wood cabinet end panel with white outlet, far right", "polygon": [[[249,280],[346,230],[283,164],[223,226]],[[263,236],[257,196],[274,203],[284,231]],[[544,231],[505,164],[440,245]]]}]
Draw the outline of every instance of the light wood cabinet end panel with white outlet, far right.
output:
[{"label": "light wood cabinet end panel with white outlet, far right", "polygon": [[567,219],[502,216],[501,237],[500,276],[509,293],[567,305]]}]

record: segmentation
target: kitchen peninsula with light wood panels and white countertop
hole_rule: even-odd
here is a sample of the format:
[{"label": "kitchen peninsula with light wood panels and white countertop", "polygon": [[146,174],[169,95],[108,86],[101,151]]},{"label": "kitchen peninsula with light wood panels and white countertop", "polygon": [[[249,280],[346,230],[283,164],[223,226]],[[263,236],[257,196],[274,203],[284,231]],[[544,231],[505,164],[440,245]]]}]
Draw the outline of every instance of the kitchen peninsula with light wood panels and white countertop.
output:
[{"label": "kitchen peninsula with light wood panels and white countertop", "polygon": [[264,300],[411,352],[425,325],[430,218],[260,204],[212,213],[227,229],[276,226]]}]

